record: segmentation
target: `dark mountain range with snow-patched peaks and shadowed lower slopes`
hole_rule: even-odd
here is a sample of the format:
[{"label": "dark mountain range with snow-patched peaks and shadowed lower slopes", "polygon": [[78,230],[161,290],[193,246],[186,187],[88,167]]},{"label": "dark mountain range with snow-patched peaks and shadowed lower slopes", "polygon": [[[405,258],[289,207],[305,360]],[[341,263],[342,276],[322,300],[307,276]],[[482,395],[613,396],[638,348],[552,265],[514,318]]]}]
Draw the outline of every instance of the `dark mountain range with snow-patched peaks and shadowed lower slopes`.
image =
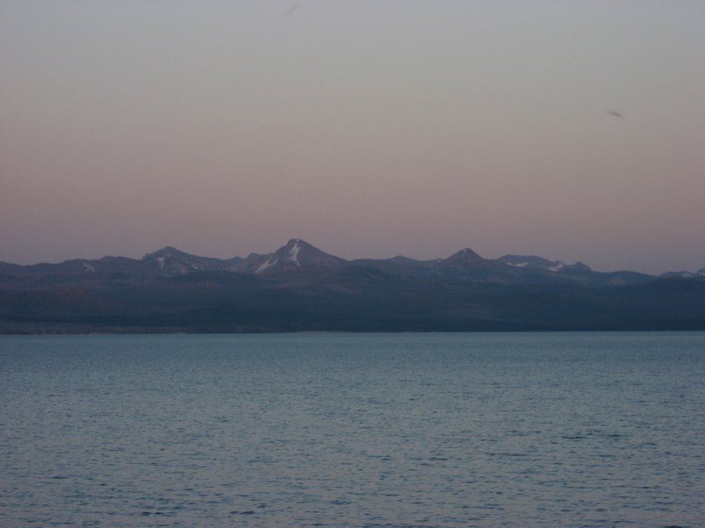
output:
[{"label": "dark mountain range with snow-patched peaks and shadowed lower slopes", "polygon": [[705,329],[705,268],[659,277],[539,256],[345,260],[301,239],[226,260],[0,263],[0,332]]}]

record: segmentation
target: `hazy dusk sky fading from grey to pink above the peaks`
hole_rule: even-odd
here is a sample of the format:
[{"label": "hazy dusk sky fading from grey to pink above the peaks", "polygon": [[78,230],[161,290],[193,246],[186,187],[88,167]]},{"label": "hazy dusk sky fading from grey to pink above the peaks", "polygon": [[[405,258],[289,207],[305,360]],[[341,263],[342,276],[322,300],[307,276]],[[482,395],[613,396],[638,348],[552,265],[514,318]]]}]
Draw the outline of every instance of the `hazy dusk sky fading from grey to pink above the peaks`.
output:
[{"label": "hazy dusk sky fading from grey to pink above the peaks", "polygon": [[705,267],[705,2],[0,0],[0,260]]}]

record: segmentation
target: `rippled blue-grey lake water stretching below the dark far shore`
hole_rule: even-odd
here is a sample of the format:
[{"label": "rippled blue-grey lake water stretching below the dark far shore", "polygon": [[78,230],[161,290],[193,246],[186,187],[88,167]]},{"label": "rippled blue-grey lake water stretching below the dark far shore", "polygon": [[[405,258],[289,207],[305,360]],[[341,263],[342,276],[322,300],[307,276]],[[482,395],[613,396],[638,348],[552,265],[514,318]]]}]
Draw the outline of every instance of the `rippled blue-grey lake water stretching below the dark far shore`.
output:
[{"label": "rippled blue-grey lake water stretching below the dark far shore", "polygon": [[705,333],[0,337],[0,525],[701,527]]}]

